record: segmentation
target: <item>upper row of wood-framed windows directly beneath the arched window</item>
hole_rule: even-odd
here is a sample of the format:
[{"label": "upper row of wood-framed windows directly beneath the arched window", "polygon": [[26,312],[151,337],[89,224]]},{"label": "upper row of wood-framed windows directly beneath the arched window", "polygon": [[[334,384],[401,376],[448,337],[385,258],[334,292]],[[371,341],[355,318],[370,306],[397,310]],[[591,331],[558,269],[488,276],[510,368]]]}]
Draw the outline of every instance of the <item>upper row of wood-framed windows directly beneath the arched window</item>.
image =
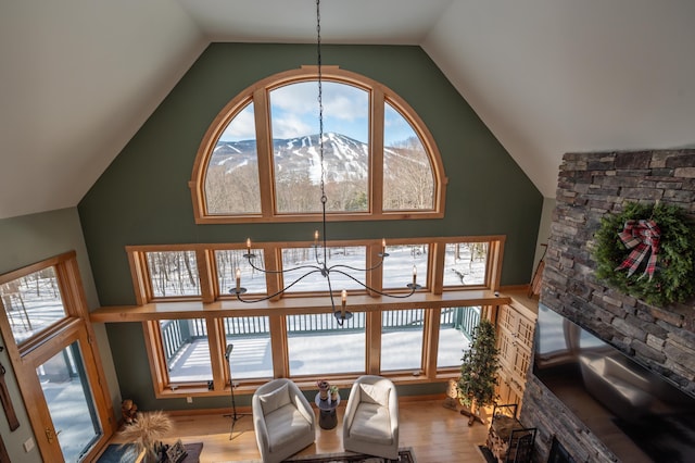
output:
[{"label": "upper row of wood-framed windows directly beneath the arched window", "polygon": [[[386,245],[386,248],[384,248]],[[404,238],[333,240],[326,252],[311,242],[253,242],[239,245],[128,246],[136,297],[151,301],[236,300],[237,283],[247,295],[264,297],[290,286],[289,295],[320,296],[328,292],[317,262],[327,260],[334,293],[365,293],[357,281],[388,292],[405,292],[416,279],[419,291],[494,289],[500,278],[504,237]],[[235,248],[231,248],[231,247]],[[379,255],[386,252],[382,265]],[[253,265],[247,254],[252,254]],[[210,264],[207,264],[210,262]],[[261,270],[271,268],[264,273]],[[312,268],[315,272],[307,275]],[[372,268],[372,272],[365,272]],[[34,277],[31,277],[34,278]],[[34,279],[31,279],[34,281]],[[7,299],[7,298],[5,298]],[[15,304],[16,305],[16,304]],[[8,304],[8,306],[10,306]],[[20,323],[18,314],[12,316]]]}]

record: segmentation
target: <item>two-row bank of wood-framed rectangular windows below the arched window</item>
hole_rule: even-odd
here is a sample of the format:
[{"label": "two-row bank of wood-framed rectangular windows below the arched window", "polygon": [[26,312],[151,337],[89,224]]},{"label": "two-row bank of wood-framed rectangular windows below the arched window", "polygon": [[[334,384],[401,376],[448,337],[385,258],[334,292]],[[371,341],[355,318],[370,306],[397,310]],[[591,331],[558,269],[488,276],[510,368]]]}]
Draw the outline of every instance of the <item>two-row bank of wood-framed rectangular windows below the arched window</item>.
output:
[{"label": "two-row bank of wood-framed rectangular windows below the arched window", "polygon": [[[249,248],[242,243],[127,247],[138,300],[153,302],[155,315],[147,316],[144,326],[155,395],[229,393],[230,381],[253,386],[278,376],[315,381],[359,374],[426,378],[454,374],[481,317],[481,300],[488,298],[495,305],[500,301],[494,289],[504,240],[502,236],[332,240],[325,253],[311,241],[252,241]],[[388,256],[378,265],[384,251]],[[247,254],[253,255],[253,266]],[[318,270],[304,277],[324,259],[331,268],[338,311],[340,292],[348,289],[353,316],[343,326],[331,313],[326,278]],[[167,268],[168,279],[176,281],[173,288],[180,286],[179,274],[184,280],[193,276],[198,283],[187,284],[200,288],[200,295],[182,298],[173,289],[166,296],[150,291],[150,285],[163,278],[159,272],[149,276],[152,262],[159,260],[168,263],[156,268]],[[364,271],[370,267],[374,272]],[[421,288],[414,299],[404,299],[413,267]],[[296,283],[286,293],[248,304],[230,295],[237,270],[249,299],[275,295]],[[457,272],[473,272],[475,279],[462,284]],[[353,278],[396,298],[368,295]]]}]

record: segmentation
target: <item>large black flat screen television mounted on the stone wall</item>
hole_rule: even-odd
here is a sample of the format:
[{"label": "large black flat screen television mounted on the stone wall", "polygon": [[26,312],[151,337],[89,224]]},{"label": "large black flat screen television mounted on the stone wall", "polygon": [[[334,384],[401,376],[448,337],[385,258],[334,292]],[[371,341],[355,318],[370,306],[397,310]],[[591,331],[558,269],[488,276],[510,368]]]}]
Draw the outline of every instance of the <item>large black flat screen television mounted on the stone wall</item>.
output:
[{"label": "large black flat screen television mounted on the stone wall", "polygon": [[541,304],[533,374],[624,462],[695,461],[695,397]]}]

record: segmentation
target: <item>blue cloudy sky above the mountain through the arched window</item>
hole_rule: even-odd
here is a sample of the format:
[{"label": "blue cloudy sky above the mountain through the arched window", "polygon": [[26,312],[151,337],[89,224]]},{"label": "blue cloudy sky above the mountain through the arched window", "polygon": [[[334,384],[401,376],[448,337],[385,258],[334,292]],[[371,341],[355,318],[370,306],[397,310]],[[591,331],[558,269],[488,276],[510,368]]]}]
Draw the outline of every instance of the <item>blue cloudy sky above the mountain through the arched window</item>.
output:
[{"label": "blue cloudy sky above the mountain through the arched window", "polygon": [[[332,82],[321,83],[324,133],[334,132],[368,141],[369,93],[363,89]],[[319,133],[318,86],[303,82],[279,87],[270,92],[273,138],[294,138]],[[387,110],[387,146],[414,135],[409,124],[395,111]],[[250,104],[229,124],[220,139],[240,141],[255,138],[253,107]]]}]

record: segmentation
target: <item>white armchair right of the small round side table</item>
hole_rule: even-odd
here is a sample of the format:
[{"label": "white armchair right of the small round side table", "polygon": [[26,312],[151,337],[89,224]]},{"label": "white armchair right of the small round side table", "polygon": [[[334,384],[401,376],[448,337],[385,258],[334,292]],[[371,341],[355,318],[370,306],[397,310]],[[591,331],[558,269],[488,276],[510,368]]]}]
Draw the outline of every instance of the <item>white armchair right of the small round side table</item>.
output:
[{"label": "white armchair right of the small round side table", "polygon": [[352,386],[343,418],[343,447],[397,460],[399,396],[390,379],[366,375]]}]

